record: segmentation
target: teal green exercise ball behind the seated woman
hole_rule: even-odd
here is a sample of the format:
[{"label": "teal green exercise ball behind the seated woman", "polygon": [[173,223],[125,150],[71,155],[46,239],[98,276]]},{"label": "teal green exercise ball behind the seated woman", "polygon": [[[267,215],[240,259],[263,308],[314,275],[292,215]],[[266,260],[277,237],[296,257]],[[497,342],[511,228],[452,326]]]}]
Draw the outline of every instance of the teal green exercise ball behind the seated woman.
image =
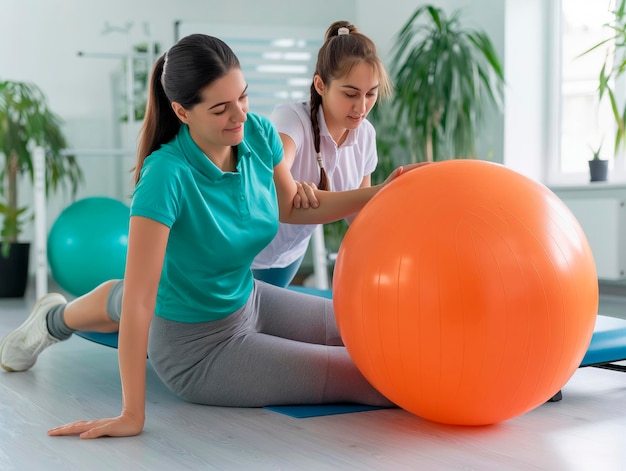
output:
[{"label": "teal green exercise ball behind the seated woman", "polygon": [[78,200],[65,208],[48,235],[54,281],[74,296],[124,277],[130,208],[106,197]]}]

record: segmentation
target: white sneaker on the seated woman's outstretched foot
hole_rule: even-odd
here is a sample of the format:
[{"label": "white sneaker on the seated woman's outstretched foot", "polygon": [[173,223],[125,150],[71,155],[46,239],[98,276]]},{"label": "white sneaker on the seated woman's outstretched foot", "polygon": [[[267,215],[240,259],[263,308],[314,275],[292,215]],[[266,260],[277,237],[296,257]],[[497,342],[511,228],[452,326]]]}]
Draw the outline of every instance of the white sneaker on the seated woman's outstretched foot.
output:
[{"label": "white sneaker on the seated woman's outstretched foot", "polygon": [[39,354],[50,345],[60,342],[48,332],[46,315],[67,300],[58,293],[39,298],[24,323],[0,343],[0,364],[7,371],[26,371],[37,361]]}]

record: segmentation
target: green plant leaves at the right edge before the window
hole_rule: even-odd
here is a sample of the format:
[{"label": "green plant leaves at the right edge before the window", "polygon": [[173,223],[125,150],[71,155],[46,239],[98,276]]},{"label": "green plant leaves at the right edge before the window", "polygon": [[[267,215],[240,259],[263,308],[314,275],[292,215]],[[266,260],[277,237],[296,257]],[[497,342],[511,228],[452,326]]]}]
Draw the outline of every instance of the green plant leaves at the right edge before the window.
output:
[{"label": "green plant leaves at the right edge before the window", "polygon": [[621,150],[626,150],[626,102],[620,104],[615,93],[615,83],[626,71],[626,0],[620,0],[611,13],[613,21],[604,25],[609,30],[607,37],[583,52],[581,56],[607,45],[612,46],[598,74],[598,97],[602,100],[607,96],[611,103],[616,124],[613,153],[617,155]]}]

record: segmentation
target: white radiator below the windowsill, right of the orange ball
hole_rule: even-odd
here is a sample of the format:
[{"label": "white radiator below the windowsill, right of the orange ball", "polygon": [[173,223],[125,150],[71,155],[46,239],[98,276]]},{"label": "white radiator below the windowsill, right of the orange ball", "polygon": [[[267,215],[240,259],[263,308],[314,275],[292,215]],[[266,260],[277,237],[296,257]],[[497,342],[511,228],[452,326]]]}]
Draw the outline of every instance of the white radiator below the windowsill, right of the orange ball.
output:
[{"label": "white radiator below the windowsill, right of the orange ball", "polygon": [[619,198],[563,198],[583,228],[601,280],[626,277],[626,208]]}]

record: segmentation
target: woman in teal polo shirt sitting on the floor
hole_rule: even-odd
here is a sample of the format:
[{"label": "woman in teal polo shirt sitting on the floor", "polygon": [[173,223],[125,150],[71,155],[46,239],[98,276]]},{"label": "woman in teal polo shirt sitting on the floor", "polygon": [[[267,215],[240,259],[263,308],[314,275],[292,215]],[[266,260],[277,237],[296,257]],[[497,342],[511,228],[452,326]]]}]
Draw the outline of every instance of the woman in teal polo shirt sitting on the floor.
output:
[{"label": "woman in teal polo shirt sitting on the floor", "polygon": [[[273,126],[248,113],[246,89],[237,57],[210,36],[181,39],[155,64],[124,290],[110,281],[69,304],[48,294],[0,344],[3,368],[24,371],[76,330],[119,330],[121,414],[50,435],[140,433],[146,353],[163,382],[195,403],[390,404],[342,346],[330,300],[255,281],[250,269],[279,219],[337,220],[358,211],[380,186],[347,192],[299,186]],[[298,208],[298,201],[319,207]]]}]

